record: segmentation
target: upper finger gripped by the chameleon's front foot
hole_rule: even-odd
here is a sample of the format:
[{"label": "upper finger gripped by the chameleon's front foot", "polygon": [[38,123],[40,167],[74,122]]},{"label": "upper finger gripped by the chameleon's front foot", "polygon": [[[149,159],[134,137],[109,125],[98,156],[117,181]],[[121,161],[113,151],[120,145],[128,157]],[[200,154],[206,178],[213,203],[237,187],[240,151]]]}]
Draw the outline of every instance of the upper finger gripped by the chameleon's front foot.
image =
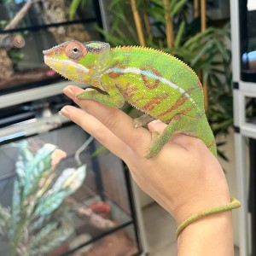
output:
[{"label": "upper finger gripped by the chameleon's front foot", "polygon": [[83,91],[79,87],[72,85],[63,90],[66,96],[73,99],[86,112],[96,117],[102,125],[105,125],[109,131],[112,131],[125,144],[131,148],[138,149],[138,151],[140,151],[139,148],[148,148],[151,135],[146,129],[142,127],[135,129],[131,117],[118,108],[110,108],[95,101],[76,99],[76,95]]}]

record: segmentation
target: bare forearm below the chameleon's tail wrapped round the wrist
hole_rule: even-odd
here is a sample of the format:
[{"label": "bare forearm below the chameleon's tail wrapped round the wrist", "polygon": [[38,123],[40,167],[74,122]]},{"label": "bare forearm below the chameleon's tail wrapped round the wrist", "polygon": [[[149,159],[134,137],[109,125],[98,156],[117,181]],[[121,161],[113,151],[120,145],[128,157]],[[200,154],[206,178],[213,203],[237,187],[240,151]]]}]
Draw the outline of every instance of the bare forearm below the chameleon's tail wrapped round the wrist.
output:
[{"label": "bare forearm below the chameleon's tail wrapped round the wrist", "polygon": [[232,212],[222,212],[189,224],[177,239],[178,256],[232,256]]}]

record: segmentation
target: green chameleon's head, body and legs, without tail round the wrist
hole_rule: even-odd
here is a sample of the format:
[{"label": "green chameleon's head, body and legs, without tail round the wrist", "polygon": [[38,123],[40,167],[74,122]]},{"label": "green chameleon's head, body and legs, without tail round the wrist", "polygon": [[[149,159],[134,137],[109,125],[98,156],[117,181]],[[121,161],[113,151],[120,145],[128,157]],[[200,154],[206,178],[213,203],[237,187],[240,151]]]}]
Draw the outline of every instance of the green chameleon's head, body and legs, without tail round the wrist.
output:
[{"label": "green chameleon's head, body and legs, without tail round the wrist", "polygon": [[122,108],[125,101],[145,113],[134,126],[153,119],[167,124],[152,136],[147,157],[158,154],[172,134],[181,131],[200,138],[216,155],[216,144],[208,124],[201,82],[183,61],[157,49],[138,46],[110,48],[108,43],[69,41],[44,50],[44,62],[67,79],[91,84],[78,95]]}]

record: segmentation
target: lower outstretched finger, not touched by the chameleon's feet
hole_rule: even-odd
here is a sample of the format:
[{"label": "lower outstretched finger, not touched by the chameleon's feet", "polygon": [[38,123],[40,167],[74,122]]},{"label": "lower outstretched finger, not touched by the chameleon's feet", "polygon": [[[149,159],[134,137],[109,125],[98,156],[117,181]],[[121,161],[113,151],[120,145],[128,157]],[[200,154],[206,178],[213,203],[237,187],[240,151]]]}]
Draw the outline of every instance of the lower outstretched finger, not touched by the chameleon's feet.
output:
[{"label": "lower outstretched finger, not touched by the chameleon's feet", "polygon": [[61,109],[61,114],[81,126],[84,131],[90,133],[92,137],[95,137],[97,141],[119,158],[125,160],[131,151],[131,148],[109,131],[105,125],[102,125],[101,122],[82,109],[66,106]]}]

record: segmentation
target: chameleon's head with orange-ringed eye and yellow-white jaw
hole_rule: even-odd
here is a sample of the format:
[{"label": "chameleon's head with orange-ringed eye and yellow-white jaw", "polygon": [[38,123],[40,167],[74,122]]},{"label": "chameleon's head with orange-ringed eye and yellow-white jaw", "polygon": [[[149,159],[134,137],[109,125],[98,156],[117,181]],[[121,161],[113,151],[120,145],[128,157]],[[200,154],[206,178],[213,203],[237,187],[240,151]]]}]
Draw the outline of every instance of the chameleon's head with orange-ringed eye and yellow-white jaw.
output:
[{"label": "chameleon's head with orange-ringed eye and yellow-white jaw", "polygon": [[79,83],[89,83],[108,67],[108,43],[68,41],[43,51],[44,62],[63,77]]}]

